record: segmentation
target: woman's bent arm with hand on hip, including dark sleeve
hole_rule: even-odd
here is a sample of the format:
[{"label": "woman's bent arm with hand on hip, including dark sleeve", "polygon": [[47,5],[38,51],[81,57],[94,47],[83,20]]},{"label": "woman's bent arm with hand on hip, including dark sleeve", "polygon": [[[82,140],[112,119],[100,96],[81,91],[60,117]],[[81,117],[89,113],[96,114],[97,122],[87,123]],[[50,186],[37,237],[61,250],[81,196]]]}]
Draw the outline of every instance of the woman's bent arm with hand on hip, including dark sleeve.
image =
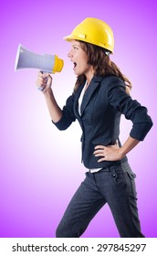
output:
[{"label": "woman's bent arm with hand on hip, including dark sleeve", "polygon": [[143,141],[146,134],[152,128],[152,119],[147,109],[138,101],[133,101],[126,93],[123,82],[115,79],[108,88],[109,102],[112,107],[123,113],[126,119],[131,120],[132,129],[129,138],[119,147],[118,144],[95,147],[94,155],[100,156],[101,161],[117,161],[127,155],[140,141]]}]

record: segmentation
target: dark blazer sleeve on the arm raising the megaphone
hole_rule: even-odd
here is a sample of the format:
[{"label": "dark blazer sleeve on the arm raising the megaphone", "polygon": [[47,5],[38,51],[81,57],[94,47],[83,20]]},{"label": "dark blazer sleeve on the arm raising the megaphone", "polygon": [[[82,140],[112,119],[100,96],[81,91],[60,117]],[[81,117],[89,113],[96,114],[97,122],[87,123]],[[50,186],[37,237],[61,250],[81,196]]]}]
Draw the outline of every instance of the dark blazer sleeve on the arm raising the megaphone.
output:
[{"label": "dark blazer sleeve on the arm raising the megaphone", "polygon": [[73,112],[73,105],[74,105],[74,94],[68,97],[68,100],[66,101],[66,105],[63,107],[62,110],[62,117],[58,121],[58,123],[54,123],[58,130],[63,131],[66,130],[72,122],[76,121],[75,114]]}]

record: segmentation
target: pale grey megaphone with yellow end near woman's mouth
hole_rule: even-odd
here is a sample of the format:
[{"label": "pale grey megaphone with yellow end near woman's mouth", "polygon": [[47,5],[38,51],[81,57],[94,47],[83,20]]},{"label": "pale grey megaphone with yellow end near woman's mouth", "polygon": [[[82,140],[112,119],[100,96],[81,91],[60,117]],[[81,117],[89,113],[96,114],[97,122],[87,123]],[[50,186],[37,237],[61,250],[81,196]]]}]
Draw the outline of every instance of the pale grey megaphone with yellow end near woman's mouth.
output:
[{"label": "pale grey megaphone with yellow end near woman's mouth", "polygon": [[55,73],[63,68],[63,59],[58,59],[57,55],[34,53],[22,45],[19,45],[16,53],[16,69],[40,69],[42,72]]}]

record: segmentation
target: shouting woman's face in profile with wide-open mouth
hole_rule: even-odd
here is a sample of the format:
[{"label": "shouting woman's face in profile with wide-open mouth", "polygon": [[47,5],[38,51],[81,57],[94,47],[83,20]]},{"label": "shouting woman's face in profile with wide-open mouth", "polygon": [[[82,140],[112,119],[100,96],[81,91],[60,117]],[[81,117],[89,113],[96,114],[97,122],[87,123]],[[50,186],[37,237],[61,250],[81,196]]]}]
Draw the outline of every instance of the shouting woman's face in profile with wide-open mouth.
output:
[{"label": "shouting woman's face in profile with wide-open mouth", "polygon": [[73,70],[77,76],[85,74],[87,79],[93,77],[92,66],[88,64],[87,54],[80,47],[80,43],[78,41],[71,41],[71,48],[68,52],[68,58],[73,62]]}]

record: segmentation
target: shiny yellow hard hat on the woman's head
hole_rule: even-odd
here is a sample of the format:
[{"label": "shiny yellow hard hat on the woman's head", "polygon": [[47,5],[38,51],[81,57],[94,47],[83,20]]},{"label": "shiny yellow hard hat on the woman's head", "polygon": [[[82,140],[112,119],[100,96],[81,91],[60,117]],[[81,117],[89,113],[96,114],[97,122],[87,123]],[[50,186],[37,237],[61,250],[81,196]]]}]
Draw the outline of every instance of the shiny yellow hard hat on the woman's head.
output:
[{"label": "shiny yellow hard hat on the woman's head", "polygon": [[64,37],[65,40],[81,40],[100,48],[106,48],[113,52],[114,37],[110,26],[104,21],[87,17],[77,27],[74,28],[71,35]]}]

